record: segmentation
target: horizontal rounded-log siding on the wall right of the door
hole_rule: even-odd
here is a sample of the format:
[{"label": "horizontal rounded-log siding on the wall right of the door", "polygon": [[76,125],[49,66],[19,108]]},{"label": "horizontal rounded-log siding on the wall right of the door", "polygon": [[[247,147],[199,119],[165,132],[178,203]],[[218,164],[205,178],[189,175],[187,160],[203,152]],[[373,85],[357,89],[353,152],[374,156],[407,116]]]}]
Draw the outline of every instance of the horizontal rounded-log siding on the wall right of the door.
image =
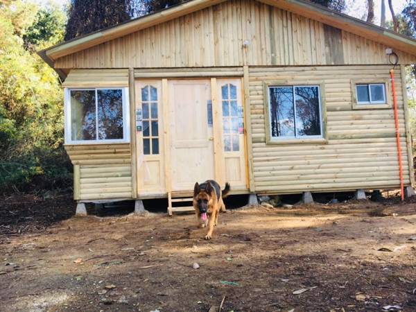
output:
[{"label": "horizontal rounded-log siding on the wall right of the door", "polygon": [[[352,110],[352,79],[389,78],[388,66],[250,68],[254,185],[258,192],[398,187],[399,165],[392,109]],[[266,144],[263,82],[324,83],[327,144]],[[410,184],[403,96],[396,71],[404,182]],[[391,100],[391,91],[388,93]]]}]

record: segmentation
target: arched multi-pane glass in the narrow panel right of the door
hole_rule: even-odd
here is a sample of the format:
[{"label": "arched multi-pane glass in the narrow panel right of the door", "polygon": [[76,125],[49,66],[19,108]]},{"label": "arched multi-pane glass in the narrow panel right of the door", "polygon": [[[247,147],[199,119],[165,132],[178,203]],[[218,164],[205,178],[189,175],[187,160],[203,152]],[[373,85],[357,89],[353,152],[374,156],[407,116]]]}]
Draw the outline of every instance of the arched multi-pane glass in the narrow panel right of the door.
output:
[{"label": "arched multi-pane glass in the narrow panel right of the door", "polygon": [[237,103],[237,87],[227,83],[221,87],[223,99],[223,136],[225,152],[240,150],[239,136],[239,105]]}]

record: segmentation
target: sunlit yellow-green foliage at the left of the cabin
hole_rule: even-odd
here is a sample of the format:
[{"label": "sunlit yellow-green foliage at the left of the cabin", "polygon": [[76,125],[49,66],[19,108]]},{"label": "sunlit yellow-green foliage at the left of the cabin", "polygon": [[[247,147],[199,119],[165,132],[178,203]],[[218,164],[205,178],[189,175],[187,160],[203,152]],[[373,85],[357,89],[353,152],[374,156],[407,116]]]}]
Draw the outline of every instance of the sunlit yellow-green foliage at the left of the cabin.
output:
[{"label": "sunlit yellow-green foliage at the left of the cabin", "polygon": [[[63,187],[71,170],[62,148],[62,89],[53,69],[24,49],[24,37],[33,49],[56,43],[63,23],[27,1],[3,1],[0,9],[0,189]],[[48,25],[51,37],[33,35],[43,32],[36,25]]]}]

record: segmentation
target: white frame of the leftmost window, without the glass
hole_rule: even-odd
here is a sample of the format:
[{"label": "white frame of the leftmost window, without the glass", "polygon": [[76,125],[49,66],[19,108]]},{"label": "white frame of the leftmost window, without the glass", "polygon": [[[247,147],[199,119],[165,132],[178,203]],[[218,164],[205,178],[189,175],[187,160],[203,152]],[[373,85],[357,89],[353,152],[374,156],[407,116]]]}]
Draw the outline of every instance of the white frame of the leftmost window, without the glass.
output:
[{"label": "white frame of the leftmost window, without the glass", "polygon": [[[96,92],[96,114],[98,114],[98,90],[121,90],[121,101],[123,107],[123,139],[94,139],[94,140],[73,140],[71,133],[71,91]],[[64,141],[66,145],[87,145],[87,144],[118,144],[130,143],[130,110],[129,110],[128,87],[65,87],[64,88]],[[98,125],[98,120],[96,120]],[[98,128],[96,128],[98,133]]]}]

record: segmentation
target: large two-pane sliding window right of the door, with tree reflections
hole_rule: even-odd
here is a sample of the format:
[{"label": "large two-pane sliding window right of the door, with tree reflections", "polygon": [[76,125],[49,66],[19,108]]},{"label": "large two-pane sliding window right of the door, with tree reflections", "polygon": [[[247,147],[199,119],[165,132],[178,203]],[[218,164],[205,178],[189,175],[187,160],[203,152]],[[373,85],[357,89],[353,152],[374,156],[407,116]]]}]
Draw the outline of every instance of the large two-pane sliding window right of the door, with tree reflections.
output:
[{"label": "large two-pane sliding window right of the door, with tree reflections", "polygon": [[322,138],[320,87],[268,87],[270,139]]}]

